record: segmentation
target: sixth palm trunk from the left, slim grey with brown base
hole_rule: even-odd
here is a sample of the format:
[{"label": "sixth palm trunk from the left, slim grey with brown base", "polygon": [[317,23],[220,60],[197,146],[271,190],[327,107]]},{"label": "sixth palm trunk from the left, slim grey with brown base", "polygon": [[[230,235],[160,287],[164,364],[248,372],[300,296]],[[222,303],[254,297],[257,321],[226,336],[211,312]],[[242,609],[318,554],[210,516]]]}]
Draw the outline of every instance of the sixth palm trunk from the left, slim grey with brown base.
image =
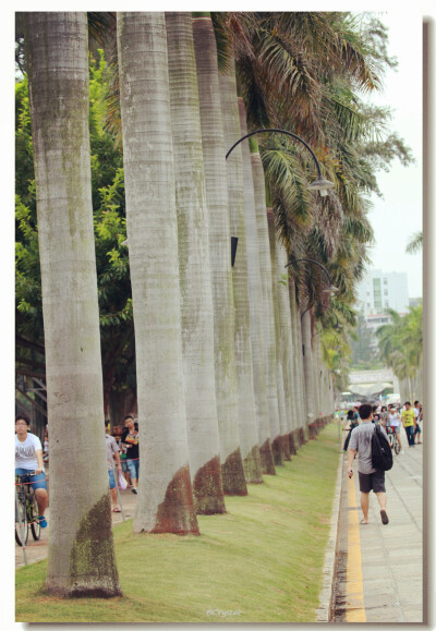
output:
[{"label": "sixth palm trunk from the left, slim grey with brown base", "polygon": [[[242,98],[238,98],[239,121],[241,136],[247,134],[246,112]],[[244,182],[244,207],[245,207],[245,234],[246,234],[246,260],[249,267],[249,292],[250,292],[250,336],[252,341],[253,357],[253,386],[256,404],[257,433],[259,445],[259,459],[263,473],[269,473],[272,462],[270,450],[270,429],[267,408],[266,391],[266,366],[265,366],[265,328],[263,323],[267,317],[264,296],[262,292],[259,244],[257,236],[256,208],[254,196],[254,182],[250,145],[247,141],[241,144],[242,168]],[[264,459],[262,458],[264,456]]]}]

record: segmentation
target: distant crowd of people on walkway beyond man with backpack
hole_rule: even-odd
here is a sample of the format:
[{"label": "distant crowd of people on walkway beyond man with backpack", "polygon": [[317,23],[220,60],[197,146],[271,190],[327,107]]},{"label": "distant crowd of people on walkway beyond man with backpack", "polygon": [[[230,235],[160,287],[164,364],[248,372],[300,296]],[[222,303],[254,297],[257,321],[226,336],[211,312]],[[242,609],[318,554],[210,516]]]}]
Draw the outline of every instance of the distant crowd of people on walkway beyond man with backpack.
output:
[{"label": "distant crowd of people on walkway beyond man with backpack", "polygon": [[[348,435],[343,444],[343,451],[349,448],[351,434],[361,423],[359,416],[360,406],[354,405],[347,412]],[[387,433],[395,433],[400,445],[400,453],[404,453],[401,444],[401,425],[404,427],[409,447],[421,445],[421,423],[423,422],[423,406],[420,401],[414,401],[413,408],[410,401],[403,405],[389,403],[388,405],[372,405],[372,423],[382,425]]]}]

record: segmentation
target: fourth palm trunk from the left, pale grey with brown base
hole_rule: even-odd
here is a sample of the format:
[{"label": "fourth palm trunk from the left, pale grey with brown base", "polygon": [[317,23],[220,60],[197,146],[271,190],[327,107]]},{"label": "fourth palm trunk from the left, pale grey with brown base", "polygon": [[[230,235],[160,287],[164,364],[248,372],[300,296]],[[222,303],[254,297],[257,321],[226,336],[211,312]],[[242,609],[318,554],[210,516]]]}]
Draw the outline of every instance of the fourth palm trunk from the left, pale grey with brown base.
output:
[{"label": "fourth palm trunk from the left, pale grey with brown base", "polygon": [[209,255],[215,325],[215,390],[222,487],[226,495],[246,495],[238,427],[226,150],[219,96],[217,45],[210,17],[194,19],[193,34],[209,213]]}]

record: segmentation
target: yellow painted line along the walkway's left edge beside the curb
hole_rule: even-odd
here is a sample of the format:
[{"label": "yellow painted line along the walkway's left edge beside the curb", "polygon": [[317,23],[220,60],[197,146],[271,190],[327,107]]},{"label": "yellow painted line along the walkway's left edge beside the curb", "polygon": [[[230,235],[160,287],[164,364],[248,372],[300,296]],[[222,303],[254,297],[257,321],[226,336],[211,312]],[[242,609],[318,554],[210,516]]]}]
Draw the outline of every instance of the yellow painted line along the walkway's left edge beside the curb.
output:
[{"label": "yellow painted line along the walkway's left edge beside the curb", "polygon": [[[348,507],[358,507],[354,478],[348,478]],[[348,558],[346,585],[346,621],[366,622],[363,599],[362,551],[359,532],[359,511],[348,511]]]}]

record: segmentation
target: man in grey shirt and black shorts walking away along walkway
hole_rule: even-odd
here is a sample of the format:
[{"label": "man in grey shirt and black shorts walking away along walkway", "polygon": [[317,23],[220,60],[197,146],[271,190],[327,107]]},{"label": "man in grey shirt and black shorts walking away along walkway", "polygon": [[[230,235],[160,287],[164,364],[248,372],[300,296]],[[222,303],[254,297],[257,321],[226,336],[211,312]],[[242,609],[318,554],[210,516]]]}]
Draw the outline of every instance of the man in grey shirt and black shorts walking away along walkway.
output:
[{"label": "man in grey shirt and black shorts walking away along walkway", "polygon": [[[374,433],[372,406],[364,403],[359,408],[359,415],[362,424],[353,430],[348,448],[348,475],[349,477],[353,476],[354,456],[359,453],[359,487],[361,490],[361,508],[363,512],[361,523],[368,523],[370,492],[373,490],[380,505],[382,522],[387,524],[389,520],[386,513],[385,472],[376,471],[371,460],[371,438]],[[380,429],[385,432],[383,426]]]}]

